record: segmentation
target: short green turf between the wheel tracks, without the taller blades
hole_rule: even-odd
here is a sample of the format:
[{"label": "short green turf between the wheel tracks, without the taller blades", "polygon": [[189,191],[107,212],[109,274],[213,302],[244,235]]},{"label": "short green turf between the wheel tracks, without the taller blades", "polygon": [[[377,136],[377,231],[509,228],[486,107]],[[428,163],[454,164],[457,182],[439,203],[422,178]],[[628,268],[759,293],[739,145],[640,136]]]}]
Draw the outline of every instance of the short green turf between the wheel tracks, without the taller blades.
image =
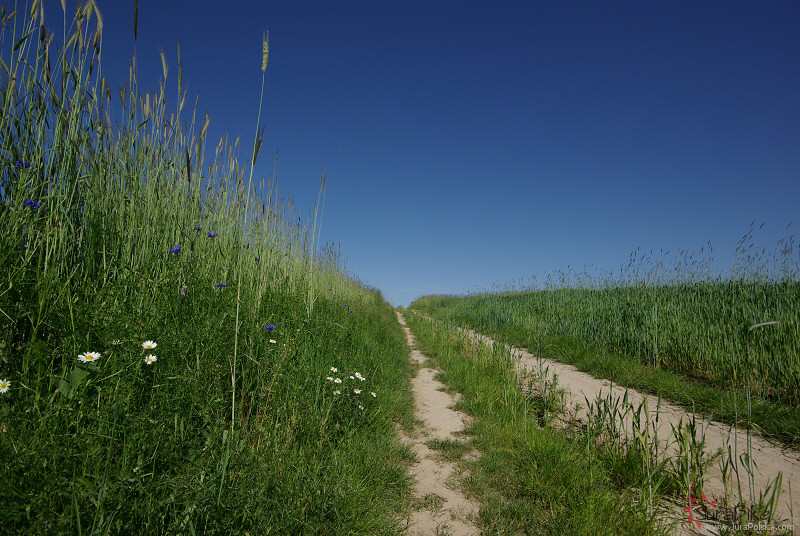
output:
[{"label": "short green turf between the wheel tracks, without the taller blades", "polygon": [[623,470],[611,470],[592,441],[540,427],[543,408],[518,388],[507,351],[476,345],[453,324],[413,312],[406,319],[442,382],[461,393],[459,409],[475,419],[465,432],[480,458],[466,464],[466,487],[481,502],[483,534],[664,533],[639,480],[620,480]]}]

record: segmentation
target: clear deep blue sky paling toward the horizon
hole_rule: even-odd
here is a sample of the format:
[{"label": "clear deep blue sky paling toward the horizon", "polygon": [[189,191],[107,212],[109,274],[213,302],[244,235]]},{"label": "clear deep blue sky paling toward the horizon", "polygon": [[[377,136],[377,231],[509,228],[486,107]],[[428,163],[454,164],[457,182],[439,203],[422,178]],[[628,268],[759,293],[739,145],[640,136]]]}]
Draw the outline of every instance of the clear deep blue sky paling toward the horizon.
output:
[{"label": "clear deep blue sky paling toward the horizon", "polygon": [[[98,4],[121,85],[133,0]],[[162,48],[174,87],[180,42],[212,140],[249,152],[265,30],[256,175],[278,149],[307,211],[327,167],[322,240],[395,305],[637,247],[711,241],[721,266],[752,220],[774,249],[800,215],[798,2],[141,0],[140,85]]]}]

